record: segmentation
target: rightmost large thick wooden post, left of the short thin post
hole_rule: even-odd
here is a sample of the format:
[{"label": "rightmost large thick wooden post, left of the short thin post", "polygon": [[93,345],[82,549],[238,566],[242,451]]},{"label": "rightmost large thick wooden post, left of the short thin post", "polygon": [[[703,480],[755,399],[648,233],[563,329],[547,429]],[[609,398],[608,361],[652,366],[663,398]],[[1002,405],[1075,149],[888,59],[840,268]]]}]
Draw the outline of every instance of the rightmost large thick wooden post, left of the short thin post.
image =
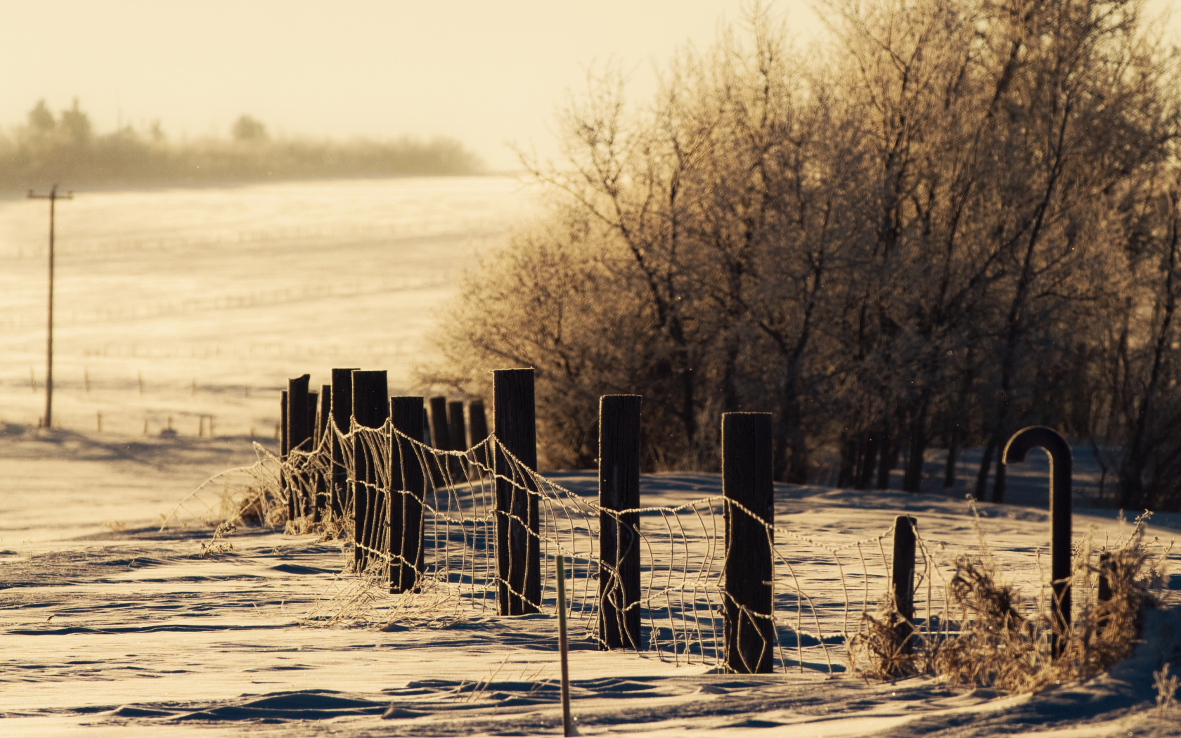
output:
[{"label": "rightmost large thick wooden post, left of the short thin post", "polygon": [[722,631],[726,670],[740,674],[768,674],[774,670],[771,458],[771,413],[722,414],[722,494],[726,497]]}]

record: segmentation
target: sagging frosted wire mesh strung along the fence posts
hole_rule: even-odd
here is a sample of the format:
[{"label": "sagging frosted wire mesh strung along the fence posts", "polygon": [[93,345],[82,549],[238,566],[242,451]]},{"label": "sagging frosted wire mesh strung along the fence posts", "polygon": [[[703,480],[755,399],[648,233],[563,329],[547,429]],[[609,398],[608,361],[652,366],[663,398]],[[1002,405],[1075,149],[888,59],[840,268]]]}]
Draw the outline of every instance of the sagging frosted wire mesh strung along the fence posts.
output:
[{"label": "sagging frosted wire mesh strung along the fence posts", "polygon": [[[465,451],[445,451],[390,420],[378,429],[328,427],[314,448],[286,458],[256,445],[254,465],[208,479],[163,527],[261,524],[351,544],[351,562],[307,615],[320,623],[496,616],[511,597],[527,612],[552,613],[555,561],[565,556],[573,631],[605,647],[602,603],[611,599],[619,605],[609,608],[612,616],[639,610],[638,649],[676,664],[724,662],[727,518],[750,514],[735,501],[713,495],[608,510],[596,496],[529,469],[496,436]],[[622,597],[619,572],[609,563],[618,559],[600,551],[602,521],[625,525],[629,515],[640,557],[640,595],[632,601]],[[779,670],[843,671],[846,641],[889,584],[886,542],[893,528],[856,541],[783,524],[763,524],[763,533],[772,557],[771,613],[744,613],[771,621],[764,632],[770,635],[756,636],[764,641],[759,648],[772,652]],[[498,550],[507,544],[529,551],[530,542],[534,556]],[[514,572],[515,566],[528,570]],[[915,566],[915,632],[935,636],[948,627],[946,567],[921,540]],[[530,579],[535,592],[522,584]]]}]

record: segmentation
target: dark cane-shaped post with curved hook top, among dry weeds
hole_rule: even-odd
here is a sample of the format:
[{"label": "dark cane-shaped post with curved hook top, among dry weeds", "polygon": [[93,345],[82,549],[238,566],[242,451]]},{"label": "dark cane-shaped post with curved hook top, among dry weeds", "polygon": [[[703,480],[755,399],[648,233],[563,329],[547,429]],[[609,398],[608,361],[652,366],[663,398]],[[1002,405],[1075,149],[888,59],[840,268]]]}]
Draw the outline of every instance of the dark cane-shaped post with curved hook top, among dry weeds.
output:
[{"label": "dark cane-shaped post with curved hook top, among dry weeds", "polygon": [[1062,433],[1044,425],[1031,425],[1013,433],[1000,455],[1000,463],[1007,466],[1013,462],[1024,462],[1025,453],[1036,448],[1045,449],[1050,455],[1050,587],[1053,590],[1050,608],[1055,628],[1051,642],[1053,655],[1058,657],[1065,645],[1058,635],[1065,634],[1070,626],[1071,476],[1075,462],[1070,444]]}]

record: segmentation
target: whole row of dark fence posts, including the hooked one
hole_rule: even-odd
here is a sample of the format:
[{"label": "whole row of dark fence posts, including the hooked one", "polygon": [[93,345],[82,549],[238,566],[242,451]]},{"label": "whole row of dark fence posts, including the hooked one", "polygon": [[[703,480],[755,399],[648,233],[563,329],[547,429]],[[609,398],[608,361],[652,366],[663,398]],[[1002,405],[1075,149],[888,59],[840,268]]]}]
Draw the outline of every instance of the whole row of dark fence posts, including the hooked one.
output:
[{"label": "whole row of dark fence posts, including the hooked one", "polygon": [[[311,450],[327,432],[328,423],[347,432],[351,420],[360,427],[379,429],[386,419],[409,438],[423,439],[443,450],[465,450],[488,437],[483,400],[468,404],[464,427],[462,401],[446,398],[389,397],[384,371],[332,370],[332,384],[320,392],[308,391],[308,375],[292,379],[282,392],[281,455]],[[599,401],[599,505],[600,512],[600,639],[601,647],[641,647],[640,633],[640,535],[639,514],[624,512],[640,507],[640,413],[638,394],[609,394]],[[537,438],[531,368],[492,372],[495,435],[504,450],[530,471],[537,469]],[[466,438],[465,438],[466,437]],[[390,592],[412,590],[423,570],[423,508],[428,475],[439,475],[438,464],[428,464],[413,444],[398,438],[390,449],[391,479],[378,484],[372,461],[354,437],[352,456],[355,476],[347,478],[344,449],[332,435],[332,478],[315,482],[314,499],[288,495],[288,515],[320,521],[331,510],[342,520],[354,510],[353,535],[357,569],[368,563],[366,549],[379,540],[384,523],[385,551],[393,562],[386,575]],[[1036,426],[1018,431],[1005,448],[1004,463],[1022,462],[1031,448],[1044,448],[1051,457],[1051,577],[1057,623],[1070,622],[1070,448],[1057,431]],[[541,602],[540,516],[535,482],[513,471],[509,459],[497,452],[488,459],[496,477],[497,607],[501,615],[539,612]],[[417,462],[417,463],[415,463]],[[737,673],[772,671],[776,644],[772,616],[775,523],[772,478],[772,418],[765,412],[730,412],[722,416],[722,494],[726,499],[725,588],[723,593],[724,665]],[[439,479],[433,478],[438,484]],[[286,485],[286,477],[281,479]],[[397,486],[394,486],[397,485]],[[394,490],[407,494],[393,494]],[[386,496],[390,496],[389,505]],[[733,504],[731,504],[733,503]],[[386,510],[389,517],[378,521]],[[613,514],[614,512],[614,514]],[[914,646],[915,518],[899,516],[889,593],[898,613],[899,642],[905,653]],[[1105,561],[1105,560],[1104,560]],[[1102,567],[1103,564],[1101,564]],[[1098,599],[1110,599],[1108,575],[1101,576]],[[1052,648],[1057,654],[1061,644]]]}]

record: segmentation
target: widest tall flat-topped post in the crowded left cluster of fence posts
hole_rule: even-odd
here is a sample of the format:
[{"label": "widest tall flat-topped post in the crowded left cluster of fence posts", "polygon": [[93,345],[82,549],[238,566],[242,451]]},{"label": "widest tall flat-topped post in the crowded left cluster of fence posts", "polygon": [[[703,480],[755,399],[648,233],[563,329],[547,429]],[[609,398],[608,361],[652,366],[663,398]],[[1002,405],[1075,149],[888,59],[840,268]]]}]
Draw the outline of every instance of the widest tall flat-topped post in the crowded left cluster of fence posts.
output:
[{"label": "widest tall flat-topped post in the crowded left cluster of fence posts", "polygon": [[[381,427],[390,413],[390,400],[386,392],[385,371],[353,372],[353,419],[363,427]],[[374,548],[373,529],[376,520],[384,520],[385,494],[378,483],[378,465],[383,459],[373,458],[381,453],[380,446],[373,448],[358,436],[353,439],[353,464],[357,468],[357,482],[353,486],[353,556],[357,570],[363,570],[371,554],[363,550]]]}]

